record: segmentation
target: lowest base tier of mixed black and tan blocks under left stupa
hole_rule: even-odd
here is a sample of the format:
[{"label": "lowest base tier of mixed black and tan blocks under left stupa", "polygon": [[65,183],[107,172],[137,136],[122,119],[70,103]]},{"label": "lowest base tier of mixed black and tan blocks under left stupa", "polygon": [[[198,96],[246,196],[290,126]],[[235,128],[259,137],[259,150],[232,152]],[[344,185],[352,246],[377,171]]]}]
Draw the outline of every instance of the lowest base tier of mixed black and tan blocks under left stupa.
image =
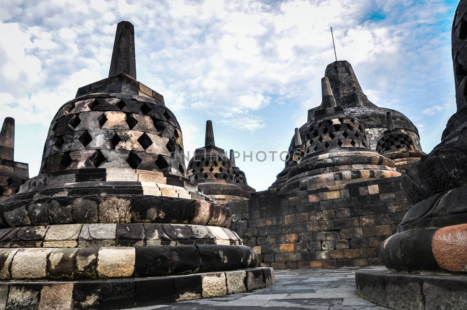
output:
[{"label": "lowest base tier of mixed black and tan blocks under left stupa", "polygon": [[125,309],[262,289],[272,268],[82,281],[0,282],[0,309]]}]

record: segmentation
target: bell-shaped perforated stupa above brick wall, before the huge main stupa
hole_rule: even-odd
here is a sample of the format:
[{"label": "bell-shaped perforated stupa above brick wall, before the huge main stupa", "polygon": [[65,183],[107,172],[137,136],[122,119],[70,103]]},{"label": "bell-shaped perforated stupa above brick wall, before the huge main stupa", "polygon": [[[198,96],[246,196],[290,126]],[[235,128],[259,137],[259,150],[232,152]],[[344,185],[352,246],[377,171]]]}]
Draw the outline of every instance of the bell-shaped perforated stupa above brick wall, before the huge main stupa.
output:
[{"label": "bell-shaped perforated stupa above brick wall, before the huge main stupa", "polygon": [[328,78],[321,84],[323,99],[307,125],[304,158],[289,171],[281,192],[399,176],[392,160],[369,147],[360,120],[336,106]]}]

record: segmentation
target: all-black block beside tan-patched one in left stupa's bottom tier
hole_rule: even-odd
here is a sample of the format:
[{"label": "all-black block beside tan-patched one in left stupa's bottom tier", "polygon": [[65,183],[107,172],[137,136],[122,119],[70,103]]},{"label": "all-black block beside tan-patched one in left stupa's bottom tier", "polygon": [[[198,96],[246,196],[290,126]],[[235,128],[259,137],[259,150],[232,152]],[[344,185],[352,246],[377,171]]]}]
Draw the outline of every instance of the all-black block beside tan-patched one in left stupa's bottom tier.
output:
[{"label": "all-black block beside tan-patched one in left stupa's bottom tier", "polygon": [[175,291],[173,278],[149,278],[138,279],[136,281],[136,304],[138,306],[170,303],[174,300]]}]

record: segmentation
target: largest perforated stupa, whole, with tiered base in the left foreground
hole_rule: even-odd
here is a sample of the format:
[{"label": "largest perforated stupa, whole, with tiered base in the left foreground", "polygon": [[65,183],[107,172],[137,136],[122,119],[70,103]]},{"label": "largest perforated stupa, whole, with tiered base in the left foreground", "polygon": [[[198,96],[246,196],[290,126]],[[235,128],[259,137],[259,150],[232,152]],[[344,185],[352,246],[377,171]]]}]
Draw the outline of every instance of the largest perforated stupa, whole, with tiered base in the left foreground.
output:
[{"label": "largest perforated stupa, whole, with tiered base in the left foreground", "polygon": [[182,152],[163,96],[136,80],[133,25],[121,21],[109,77],[59,109],[40,174],[0,203],[0,305],[122,309],[273,284]]}]

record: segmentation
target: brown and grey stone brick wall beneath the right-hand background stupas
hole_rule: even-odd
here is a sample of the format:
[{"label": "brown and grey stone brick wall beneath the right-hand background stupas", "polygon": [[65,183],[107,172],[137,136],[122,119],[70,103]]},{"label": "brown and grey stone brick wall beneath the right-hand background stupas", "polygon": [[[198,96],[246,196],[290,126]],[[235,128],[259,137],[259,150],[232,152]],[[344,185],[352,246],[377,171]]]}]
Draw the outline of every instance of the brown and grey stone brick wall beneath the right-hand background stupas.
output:
[{"label": "brown and grey stone brick wall beneath the right-hand background stupas", "polygon": [[228,206],[230,229],[262,267],[295,269],[381,265],[379,247],[411,204],[392,177],[290,194],[266,190]]}]

